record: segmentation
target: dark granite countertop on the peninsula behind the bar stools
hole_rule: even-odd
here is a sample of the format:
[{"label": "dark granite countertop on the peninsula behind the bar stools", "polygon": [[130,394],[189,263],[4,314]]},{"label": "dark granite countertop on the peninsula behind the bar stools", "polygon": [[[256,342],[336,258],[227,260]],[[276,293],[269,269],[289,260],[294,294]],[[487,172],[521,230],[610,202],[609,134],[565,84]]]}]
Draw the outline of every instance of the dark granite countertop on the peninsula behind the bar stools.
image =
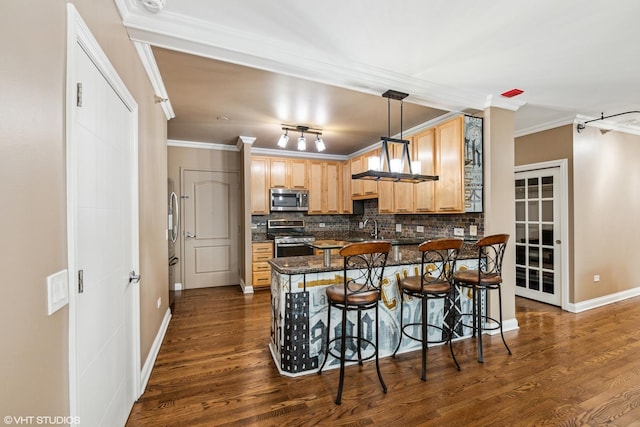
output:
[{"label": "dark granite countertop on the peninsula behind the bar stools", "polygon": [[[473,244],[465,243],[458,259],[473,259],[476,256],[477,252],[474,250]],[[420,264],[421,262],[422,258],[417,244],[398,246],[387,259],[388,266]],[[338,271],[342,270],[342,263],[343,259],[339,255],[331,256],[331,266],[329,267],[325,267],[322,255],[273,258],[269,261],[275,271],[290,275]]]}]

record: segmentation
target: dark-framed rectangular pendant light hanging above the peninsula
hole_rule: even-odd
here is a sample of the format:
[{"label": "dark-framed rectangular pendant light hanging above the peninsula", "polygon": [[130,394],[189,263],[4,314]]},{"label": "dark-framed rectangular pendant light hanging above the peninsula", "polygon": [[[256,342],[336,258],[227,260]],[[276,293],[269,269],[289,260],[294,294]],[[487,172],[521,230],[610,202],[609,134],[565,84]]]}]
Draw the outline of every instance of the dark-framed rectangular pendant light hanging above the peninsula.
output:
[{"label": "dark-framed rectangular pendant light hanging above the peninsula", "polygon": [[[351,175],[352,179],[369,179],[374,181],[394,181],[419,183],[425,181],[437,181],[436,175],[422,175],[419,162],[411,162],[409,155],[409,141],[402,139],[402,109],[403,99],[409,96],[408,93],[388,90],[382,94],[387,98],[387,136],[380,137],[382,144],[382,155],[370,157],[368,162],[369,170]],[[391,100],[400,101],[400,138],[391,138]],[[389,157],[389,144],[401,144],[402,155],[399,159]],[[409,173],[403,172],[407,165]]]}]

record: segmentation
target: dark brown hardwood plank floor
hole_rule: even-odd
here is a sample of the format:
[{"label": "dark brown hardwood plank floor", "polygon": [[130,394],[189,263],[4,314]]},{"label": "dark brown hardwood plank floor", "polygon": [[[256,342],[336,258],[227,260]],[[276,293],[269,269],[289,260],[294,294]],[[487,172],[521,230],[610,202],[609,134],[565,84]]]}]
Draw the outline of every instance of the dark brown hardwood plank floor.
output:
[{"label": "dark brown hardwood plank floor", "polygon": [[268,350],[269,293],[238,287],[183,291],[127,426],[640,426],[640,298],[572,314],[517,301],[518,331],[485,335],[346,370],[278,374]]}]

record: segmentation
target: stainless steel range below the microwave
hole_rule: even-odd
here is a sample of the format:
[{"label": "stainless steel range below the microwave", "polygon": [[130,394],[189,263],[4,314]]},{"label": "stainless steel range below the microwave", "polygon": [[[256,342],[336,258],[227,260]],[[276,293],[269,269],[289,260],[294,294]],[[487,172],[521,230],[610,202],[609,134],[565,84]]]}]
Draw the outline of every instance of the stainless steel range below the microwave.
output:
[{"label": "stainless steel range below the microwave", "polygon": [[275,258],[314,254],[309,244],[316,239],[305,232],[303,220],[270,219],[267,237],[273,239]]}]

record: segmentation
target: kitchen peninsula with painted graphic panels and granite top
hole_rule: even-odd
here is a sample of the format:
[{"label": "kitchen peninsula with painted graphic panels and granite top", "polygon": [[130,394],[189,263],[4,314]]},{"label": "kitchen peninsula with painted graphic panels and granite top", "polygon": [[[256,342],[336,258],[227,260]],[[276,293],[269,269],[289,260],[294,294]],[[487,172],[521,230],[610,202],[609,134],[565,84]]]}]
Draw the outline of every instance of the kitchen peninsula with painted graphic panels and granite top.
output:
[{"label": "kitchen peninsula with painted graphic panels and granite top", "polygon": [[[394,243],[394,242],[392,242]],[[389,254],[382,281],[382,303],[379,310],[380,357],[393,353],[400,338],[400,303],[398,279],[418,275],[421,254],[414,242],[396,241],[393,253]],[[320,244],[319,244],[320,245]],[[343,259],[339,255],[324,255],[274,258],[271,265],[271,342],[270,350],[282,375],[296,376],[315,372],[326,354],[327,300],[325,288],[343,282]],[[470,245],[461,251],[458,268],[474,265]],[[429,323],[440,324],[443,319],[455,325],[460,312],[471,311],[471,299],[466,294],[454,291],[449,300],[429,303]],[[331,324],[339,328],[340,314],[332,313]],[[418,300],[405,301],[404,315],[411,321],[420,318]],[[374,331],[375,313],[363,315],[364,334]],[[355,319],[355,317],[354,317]],[[439,331],[430,329],[429,340],[436,340]],[[416,334],[419,334],[416,331]],[[471,335],[471,329],[456,325],[454,336]],[[399,352],[417,350],[420,344],[404,339]],[[328,361],[332,366],[337,361]]]}]

